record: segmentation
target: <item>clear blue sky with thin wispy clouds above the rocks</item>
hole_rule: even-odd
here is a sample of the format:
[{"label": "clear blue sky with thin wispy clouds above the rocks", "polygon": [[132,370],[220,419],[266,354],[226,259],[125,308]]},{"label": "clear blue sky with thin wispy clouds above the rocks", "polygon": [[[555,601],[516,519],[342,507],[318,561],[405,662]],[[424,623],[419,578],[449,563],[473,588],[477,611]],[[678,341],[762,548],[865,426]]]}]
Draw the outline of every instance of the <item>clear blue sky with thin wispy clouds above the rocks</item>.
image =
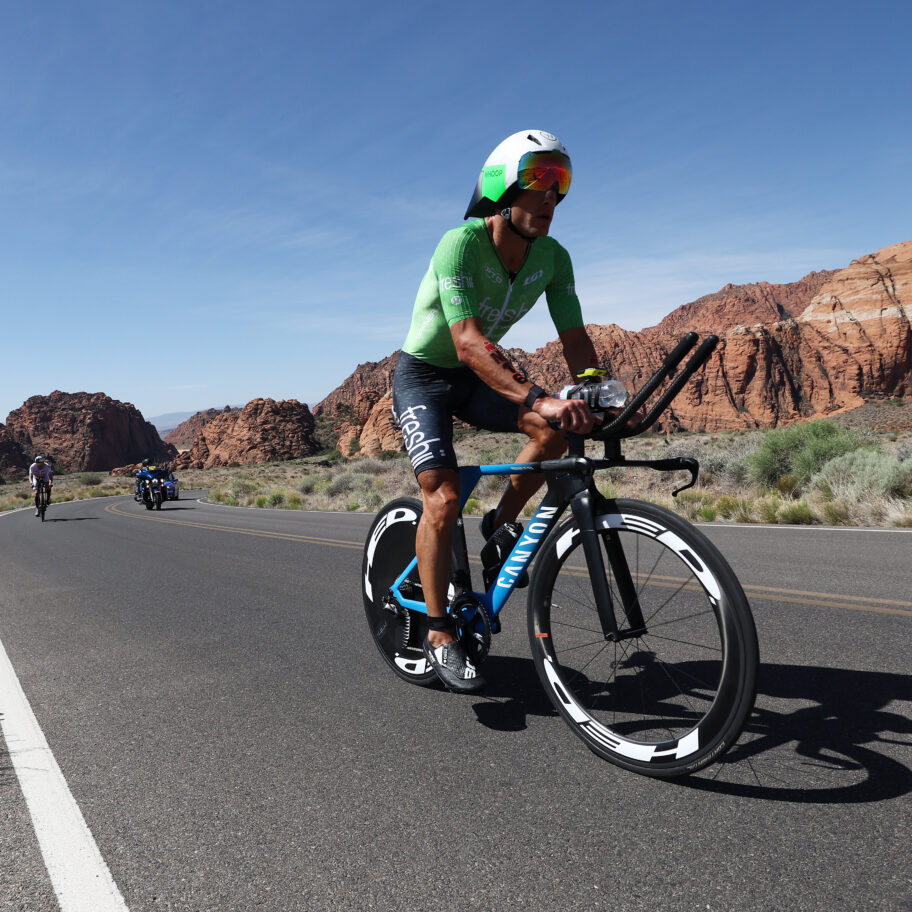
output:
[{"label": "clear blue sky with thin wispy clouds above the rocks", "polygon": [[[0,421],[315,405],[402,343],[490,150],[557,134],[584,317],[912,239],[912,5],[0,8]],[[504,339],[554,338],[536,308]]]}]

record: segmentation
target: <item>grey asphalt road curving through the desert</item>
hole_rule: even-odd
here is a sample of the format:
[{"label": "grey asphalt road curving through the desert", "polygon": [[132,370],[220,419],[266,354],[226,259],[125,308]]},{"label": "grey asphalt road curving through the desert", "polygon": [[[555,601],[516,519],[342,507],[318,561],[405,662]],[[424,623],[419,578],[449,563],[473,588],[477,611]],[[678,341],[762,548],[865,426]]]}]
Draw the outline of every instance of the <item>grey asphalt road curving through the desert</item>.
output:
[{"label": "grey asphalt road curving through the desert", "polygon": [[[912,532],[702,527],[751,599],[760,693],[723,763],[663,782],[551,711],[524,592],[485,695],[395,678],[370,519],[0,517],[0,642],[133,912],[912,912]],[[2,739],[0,807],[0,909],[56,910]]]}]

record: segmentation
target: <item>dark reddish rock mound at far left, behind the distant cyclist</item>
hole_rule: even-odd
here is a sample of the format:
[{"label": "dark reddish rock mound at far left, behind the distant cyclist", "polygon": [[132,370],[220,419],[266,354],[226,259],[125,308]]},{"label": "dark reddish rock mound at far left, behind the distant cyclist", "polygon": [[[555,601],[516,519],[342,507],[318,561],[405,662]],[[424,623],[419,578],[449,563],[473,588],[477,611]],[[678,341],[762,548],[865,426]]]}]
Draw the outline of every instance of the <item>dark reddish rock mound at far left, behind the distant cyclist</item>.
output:
[{"label": "dark reddish rock mound at far left, behind the distant cyclist", "polygon": [[104,393],[32,396],[6,419],[10,436],[28,460],[48,456],[58,472],[108,471],[144,458],[171,459],[174,447],[129,402]]}]

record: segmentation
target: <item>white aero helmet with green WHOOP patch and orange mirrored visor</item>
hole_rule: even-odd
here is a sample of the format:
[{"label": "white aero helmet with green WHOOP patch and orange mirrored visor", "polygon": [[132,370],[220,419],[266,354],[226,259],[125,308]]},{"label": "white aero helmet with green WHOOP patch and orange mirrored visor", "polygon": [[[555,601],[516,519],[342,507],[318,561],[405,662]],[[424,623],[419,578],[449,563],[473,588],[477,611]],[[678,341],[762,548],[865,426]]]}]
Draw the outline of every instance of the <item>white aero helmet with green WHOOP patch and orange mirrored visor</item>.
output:
[{"label": "white aero helmet with green WHOOP patch and orange mirrored visor", "polygon": [[521,130],[508,136],[488,156],[463,218],[484,218],[507,208],[521,190],[549,190],[557,184],[557,201],[570,189],[570,156],[564,144],[544,130]]}]

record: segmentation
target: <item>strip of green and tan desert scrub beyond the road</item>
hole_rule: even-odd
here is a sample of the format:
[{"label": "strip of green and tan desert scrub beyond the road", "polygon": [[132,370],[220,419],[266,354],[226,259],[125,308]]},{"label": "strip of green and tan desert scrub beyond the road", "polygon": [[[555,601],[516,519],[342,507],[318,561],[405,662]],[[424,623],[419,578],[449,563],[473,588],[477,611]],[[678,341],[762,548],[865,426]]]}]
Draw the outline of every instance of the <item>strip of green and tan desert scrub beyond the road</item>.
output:
[{"label": "strip of green and tan desert scrub beyond the road", "polygon": [[[512,434],[457,432],[465,464],[508,463],[520,449]],[[599,455],[601,444],[590,444]],[[599,473],[609,497],[637,497],[676,510],[694,522],[912,527],[912,432],[876,432],[831,420],[771,431],[646,435],[627,441],[631,459],[693,456],[696,487],[684,473],[611,469]],[[213,503],[286,510],[373,512],[393,497],[417,496],[405,454],[342,459],[337,451],[283,463],[229,466],[179,473],[182,490],[206,490]],[[466,505],[481,515],[499,500],[504,479],[483,478]],[[57,476],[54,500],[129,494],[131,478],[102,473]],[[31,501],[24,482],[0,487],[0,510]],[[527,510],[527,515],[531,508]]]}]

